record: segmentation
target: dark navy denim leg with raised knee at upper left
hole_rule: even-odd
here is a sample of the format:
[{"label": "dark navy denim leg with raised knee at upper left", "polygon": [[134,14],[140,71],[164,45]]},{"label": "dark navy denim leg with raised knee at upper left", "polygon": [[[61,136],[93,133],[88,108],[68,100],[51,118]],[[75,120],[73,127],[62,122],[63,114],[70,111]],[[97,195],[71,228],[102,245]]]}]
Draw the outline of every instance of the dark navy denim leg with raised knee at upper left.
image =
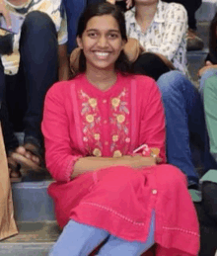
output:
[{"label": "dark navy denim leg with raised knee at upper left", "polygon": [[57,80],[58,69],[57,34],[48,15],[35,11],[27,16],[22,27],[20,52],[28,98],[25,138],[38,144],[44,96]]}]

